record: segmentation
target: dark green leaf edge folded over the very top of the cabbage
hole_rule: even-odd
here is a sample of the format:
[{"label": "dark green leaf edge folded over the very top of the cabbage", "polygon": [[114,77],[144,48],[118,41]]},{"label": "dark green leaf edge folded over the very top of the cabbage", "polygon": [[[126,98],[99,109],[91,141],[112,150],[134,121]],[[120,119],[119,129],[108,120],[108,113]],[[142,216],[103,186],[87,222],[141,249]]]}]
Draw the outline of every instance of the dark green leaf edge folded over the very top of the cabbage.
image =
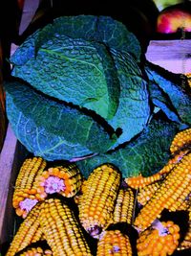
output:
[{"label": "dark green leaf edge folded over the very top of the cabbage", "polygon": [[110,16],[77,15],[55,18],[53,24],[47,25],[39,32],[35,44],[36,51],[55,34],[100,42],[117,51],[128,52],[138,61],[141,56],[141,48],[136,35]]}]

